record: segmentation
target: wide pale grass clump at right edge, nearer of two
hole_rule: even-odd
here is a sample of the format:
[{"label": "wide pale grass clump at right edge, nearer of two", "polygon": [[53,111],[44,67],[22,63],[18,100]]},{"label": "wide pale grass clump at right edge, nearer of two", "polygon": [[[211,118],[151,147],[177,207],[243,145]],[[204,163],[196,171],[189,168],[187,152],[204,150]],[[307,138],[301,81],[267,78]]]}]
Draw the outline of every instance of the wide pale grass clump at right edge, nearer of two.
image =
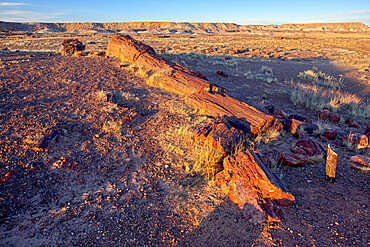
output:
[{"label": "wide pale grass clump at right edge, nearer of two", "polygon": [[302,105],[314,110],[328,109],[354,117],[370,117],[368,103],[357,95],[339,90],[298,83],[293,86],[290,99],[295,105]]}]

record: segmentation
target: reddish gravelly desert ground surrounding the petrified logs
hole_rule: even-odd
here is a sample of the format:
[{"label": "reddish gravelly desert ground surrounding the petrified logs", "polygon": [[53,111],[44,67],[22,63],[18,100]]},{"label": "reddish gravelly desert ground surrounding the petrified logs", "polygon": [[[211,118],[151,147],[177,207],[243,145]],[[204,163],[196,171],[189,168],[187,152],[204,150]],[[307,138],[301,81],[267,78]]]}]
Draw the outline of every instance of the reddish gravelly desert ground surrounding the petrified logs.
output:
[{"label": "reddish gravelly desert ground surrounding the petrified logs", "polygon": [[[115,58],[55,53],[66,37],[3,38],[0,49],[9,50],[0,54],[1,245],[369,245],[369,174],[351,169],[349,161],[363,151],[341,139],[363,134],[369,118],[339,112],[340,122],[322,122],[318,110],[289,96],[297,75],[316,67],[343,77],[341,90],[368,102],[368,37],[316,36],[313,42],[275,36],[134,36],[238,100],[264,112],[274,105],[337,130],[335,140],[311,136],[339,154],[334,183],[325,181],[323,159],[303,167],[277,162],[298,140],[291,133],[254,144],[296,198],[283,209],[285,221],[262,225],[188,168],[196,144],[182,131],[205,116],[181,97],[149,86]],[[110,37],[78,38],[86,50],[104,51]],[[108,102],[112,95],[118,104]],[[359,127],[345,123],[348,118]],[[59,138],[47,152],[35,151],[51,127]]]}]

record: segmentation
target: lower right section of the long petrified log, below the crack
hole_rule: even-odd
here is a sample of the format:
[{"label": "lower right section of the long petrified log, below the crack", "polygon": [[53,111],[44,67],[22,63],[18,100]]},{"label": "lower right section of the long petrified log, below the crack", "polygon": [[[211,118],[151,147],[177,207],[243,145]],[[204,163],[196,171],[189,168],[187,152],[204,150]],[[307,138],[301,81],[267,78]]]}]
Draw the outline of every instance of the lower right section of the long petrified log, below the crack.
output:
[{"label": "lower right section of the long petrified log, below the crack", "polygon": [[196,92],[186,97],[185,102],[214,117],[224,117],[237,129],[258,135],[267,130],[281,131],[283,125],[273,116],[230,96],[210,92]]}]

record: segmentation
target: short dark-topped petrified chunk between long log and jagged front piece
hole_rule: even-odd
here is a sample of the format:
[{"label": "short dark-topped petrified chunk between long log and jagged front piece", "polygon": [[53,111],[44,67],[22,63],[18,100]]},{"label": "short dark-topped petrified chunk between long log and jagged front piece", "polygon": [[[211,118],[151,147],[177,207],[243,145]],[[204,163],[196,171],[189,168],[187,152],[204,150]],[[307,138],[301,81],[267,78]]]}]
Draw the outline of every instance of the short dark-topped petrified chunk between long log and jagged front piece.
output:
[{"label": "short dark-topped petrified chunk between long log and jagged front piece", "polygon": [[219,119],[208,119],[193,130],[195,140],[217,148],[224,156],[235,150],[244,141],[243,132],[228,127]]}]

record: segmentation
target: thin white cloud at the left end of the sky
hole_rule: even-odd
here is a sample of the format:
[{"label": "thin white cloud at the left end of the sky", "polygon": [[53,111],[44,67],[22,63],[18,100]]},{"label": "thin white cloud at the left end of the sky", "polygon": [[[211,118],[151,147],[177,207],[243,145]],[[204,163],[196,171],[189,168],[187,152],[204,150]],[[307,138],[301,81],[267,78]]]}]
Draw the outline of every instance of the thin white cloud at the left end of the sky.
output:
[{"label": "thin white cloud at the left end of the sky", "polygon": [[[39,22],[47,21],[64,15],[64,13],[41,13],[28,10],[5,10],[0,11],[2,21],[13,22]],[[27,16],[27,17],[25,17]]]}]

